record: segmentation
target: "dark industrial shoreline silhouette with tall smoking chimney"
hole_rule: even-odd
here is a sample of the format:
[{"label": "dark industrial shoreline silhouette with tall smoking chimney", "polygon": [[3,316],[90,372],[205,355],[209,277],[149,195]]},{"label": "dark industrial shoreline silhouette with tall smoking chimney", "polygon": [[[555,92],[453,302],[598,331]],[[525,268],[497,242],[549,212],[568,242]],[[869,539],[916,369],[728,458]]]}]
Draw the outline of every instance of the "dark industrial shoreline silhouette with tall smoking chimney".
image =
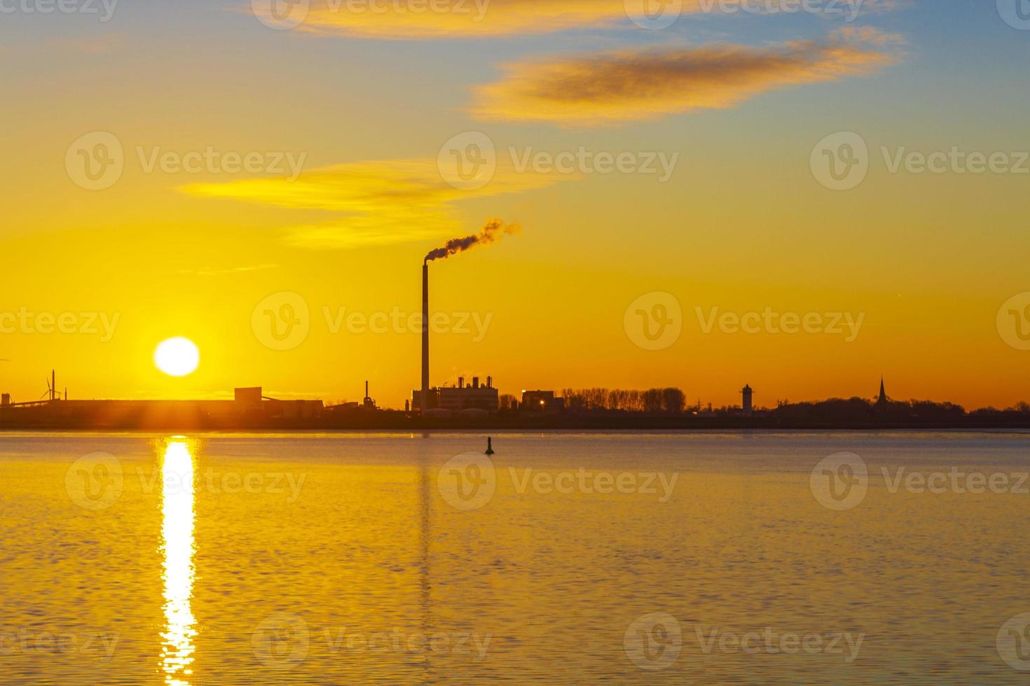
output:
[{"label": "dark industrial shoreline silhouette with tall smoking chimney", "polygon": [[[430,263],[502,236],[518,226],[490,220],[476,234],[448,241],[422,261],[421,378],[404,410],[384,409],[365,383],[362,402],[327,405],[321,400],[281,400],[262,388],[237,388],[232,400],[70,400],[58,392],[52,370],[38,400],[14,402],[0,394],[0,429],[827,429],[827,428],[1030,428],[1030,405],[967,412],[952,403],[898,402],[880,392],[819,402],[778,400],[754,404],[755,390],[740,390],[741,405],[688,405],[678,388],[638,390],[523,390],[500,395],[491,376],[464,376],[451,386],[431,386]],[[6,361],[6,360],[4,360]]]}]

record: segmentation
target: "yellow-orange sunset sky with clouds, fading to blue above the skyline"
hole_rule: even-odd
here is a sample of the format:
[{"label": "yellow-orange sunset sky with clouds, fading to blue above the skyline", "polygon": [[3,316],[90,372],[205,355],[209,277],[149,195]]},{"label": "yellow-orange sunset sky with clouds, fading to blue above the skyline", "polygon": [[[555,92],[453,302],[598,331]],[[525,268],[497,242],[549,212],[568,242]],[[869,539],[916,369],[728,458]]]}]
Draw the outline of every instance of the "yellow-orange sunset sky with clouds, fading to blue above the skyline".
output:
[{"label": "yellow-orange sunset sky with clouds, fading to blue above the skyline", "polygon": [[[343,320],[417,314],[423,255],[491,218],[521,230],[431,265],[433,310],[469,329],[434,334],[434,384],[678,386],[716,405],[750,384],[775,405],[871,397],[884,374],[896,399],[1030,400],[1030,352],[996,321],[1030,291],[1030,30],[993,1],[866,0],[853,16],[684,0],[642,28],[640,0],[313,0],[291,29],[260,0],[110,2],[0,12],[0,391],[15,401],[56,368],[71,398],[356,400],[369,380],[403,406],[418,333]],[[110,140],[96,132],[124,169],[89,189],[75,144]],[[833,190],[814,150],[840,132],[868,170]],[[449,177],[445,144],[484,140],[492,176]],[[215,161],[175,164],[209,148]],[[627,169],[525,164],[581,148],[630,153]],[[953,148],[1024,172],[891,172],[899,152]],[[308,333],[276,350],[255,308],[283,292]],[[663,350],[624,324],[649,293],[682,309]],[[697,309],[716,308],[862,324],[854,339],[707,333]],[[78,329],[93,313],[97,332],[4,328],[4,313]],[[195,373],[154,367],[172,336],[196,341]]]}]

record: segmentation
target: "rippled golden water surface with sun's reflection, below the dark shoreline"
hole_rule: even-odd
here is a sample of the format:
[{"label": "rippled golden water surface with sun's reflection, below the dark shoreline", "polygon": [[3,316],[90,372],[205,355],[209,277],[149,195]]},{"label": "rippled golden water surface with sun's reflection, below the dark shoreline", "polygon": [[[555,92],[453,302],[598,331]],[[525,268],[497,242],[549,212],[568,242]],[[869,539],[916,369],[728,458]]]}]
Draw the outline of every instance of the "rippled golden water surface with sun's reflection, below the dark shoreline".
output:
[{"label": "rippled golden water surface with sun's reflection, below the dark shoreline", "polygon": [[1027,435],[493,438],[0,434],[0,683],[1028,676]]}]

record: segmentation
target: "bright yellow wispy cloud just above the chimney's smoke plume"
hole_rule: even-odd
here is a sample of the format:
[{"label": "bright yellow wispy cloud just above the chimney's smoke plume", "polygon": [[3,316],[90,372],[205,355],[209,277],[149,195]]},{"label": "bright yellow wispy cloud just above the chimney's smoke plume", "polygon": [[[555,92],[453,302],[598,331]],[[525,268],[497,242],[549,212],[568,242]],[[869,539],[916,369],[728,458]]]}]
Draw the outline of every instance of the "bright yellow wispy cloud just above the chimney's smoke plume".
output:
[{"label": "bright yellow wispy cloud just above the chimney's smoke plume", "polygon": [[556,183],[556,175],[516,172],[499,165],[482,188],[456,188],[442,178],[436,159],[336,165],[286,179],[243,179],[182,188],[296,210],[335,213],[332,219],[284,228],[287,243],[306,248],[356,248],[423,241],[450,234],[459,221],[453,204],[473,197],[516,193]]}]

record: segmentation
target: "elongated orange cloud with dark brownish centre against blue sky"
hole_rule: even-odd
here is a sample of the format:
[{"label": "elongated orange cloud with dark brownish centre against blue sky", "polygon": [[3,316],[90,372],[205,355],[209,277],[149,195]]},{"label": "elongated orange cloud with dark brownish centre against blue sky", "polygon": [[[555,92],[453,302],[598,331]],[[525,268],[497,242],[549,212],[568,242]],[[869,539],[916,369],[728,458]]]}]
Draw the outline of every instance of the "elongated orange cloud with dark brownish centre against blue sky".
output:
[{"label": "elongated orange cloud with dark brownish centre against blue sky", "polygon": [[845,29],[769,47],[614,50],[524,61],[475,91],[482,119],[597,125],[726,109],[766,91],[871,74],[897,61],[899,36]]}]

